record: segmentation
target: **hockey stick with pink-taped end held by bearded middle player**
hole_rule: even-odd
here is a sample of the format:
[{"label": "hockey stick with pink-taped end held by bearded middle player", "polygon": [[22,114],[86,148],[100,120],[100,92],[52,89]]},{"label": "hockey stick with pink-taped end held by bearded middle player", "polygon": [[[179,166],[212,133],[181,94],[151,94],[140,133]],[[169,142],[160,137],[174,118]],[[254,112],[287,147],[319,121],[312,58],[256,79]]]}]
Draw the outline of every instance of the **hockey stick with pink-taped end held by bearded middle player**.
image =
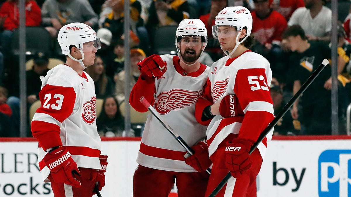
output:
[{"label": "hockey stick with pink-taped end held by bearded middle player", "polygon": [[[181,138],[176,132],[173,131],[173,129],[166,124],[164,120],[160,117],[158,112],[150,105],[150,103],[144,98],[144,96],[140,97],[140,102],[143,103],[143,105],[151,111],[151,113],[157,118],[157,120],[171,133],[171,135],[176,138],[176,140],[179,142],[179,144],[185,148],[185,150],[190,154],[194,155],[195,151],[190,148],[190,146]],[[207,168],[206,172],[208,174],[211,174],[211,169]]]}]

